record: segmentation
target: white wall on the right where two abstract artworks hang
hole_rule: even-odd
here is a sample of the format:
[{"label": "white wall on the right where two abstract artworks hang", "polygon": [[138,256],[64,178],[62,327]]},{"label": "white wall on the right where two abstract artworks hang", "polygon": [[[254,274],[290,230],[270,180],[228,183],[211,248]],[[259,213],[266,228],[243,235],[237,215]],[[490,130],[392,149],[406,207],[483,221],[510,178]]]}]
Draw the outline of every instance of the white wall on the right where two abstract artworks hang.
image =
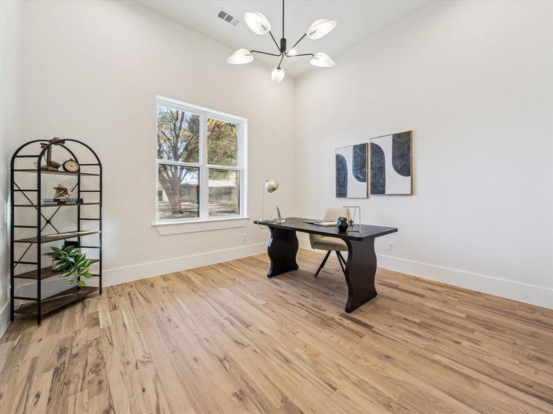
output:
[{"label": "white wall on the right where two abstract artworks hang", "polygon": [[413,130],[414,195],[348,201],[399,228],[379,266],[553,307],[552,30],[551,2],[438,2],[297,79],[301,212],[344,205],[335,148]]}]

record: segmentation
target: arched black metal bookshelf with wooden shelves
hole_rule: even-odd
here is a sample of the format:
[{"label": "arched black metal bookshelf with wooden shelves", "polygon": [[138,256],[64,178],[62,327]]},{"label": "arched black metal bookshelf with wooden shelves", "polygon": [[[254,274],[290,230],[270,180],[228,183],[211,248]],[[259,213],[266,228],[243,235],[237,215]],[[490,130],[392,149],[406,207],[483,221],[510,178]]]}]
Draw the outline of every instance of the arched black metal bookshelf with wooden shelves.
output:
[{"label": "arched black metal bookshelf with wooden shelves", "polygon": [[[71,159],[77,161],[79,164],[79,170],[77,172],[68,172],[65,170],[44,170],[41,168],[43,161],[45,161],[45,154],[50,148],[56,146],[62,148],[67,152],[67,155]],[[79,148],[80,147],[80,148]],[[31,152],[27,154],[26,152]],[[91,162],[79,162],[75,152],[79,153],[82,159],[91,160]],[[34,162],[34,164],[32,164]],[[21,164],[27,164],[21,166]],[[31,164],[30,166],[28,164]],[[34,168],[31,168],[34,165]],[[83,171],[83,167],[86,171]],[[97,201],[84,201],[82,204],[44,204],[42,202],[42,178],[45,174],[55,174],[62,176],[73,176],[77,178],[77,184],[73,186],[71,191],[77,191],[77,198],[85,197],[91,193],[97,194]],[[25,180],[26,184],[31,181],[35,184],[35,188],[26,188],[25,186],[19,186],[17,184],[16,177],[21,182],[19,175],[35,175],[35,179]],[[94,180],[97,184],[93,188],[82,188],[83,183],[81,177],[97,177]],[[15,201],[15,195],[18,194],[19,201]],[[20,197],[20,196],[23,197]],[[21,198],[24,201],[21,201]],[[35,201],[33,201],[35,199]],[[97,217],[88,213],[86,217],[82,217],[82,206],[97,206]],[[20,209],[28,208],[36,209],[35,224],[19,224]],[[55,208],[52,210],[52,208]],[[60,232],[53,222],[56,214],[62,210],[62,208],[77,208],[77,223],[76,229],[69,232]],[[26,216],[28,217],[28,216]],[[95,230],[84,230],[82,223],[87,221],[88,223],[95,224]],[[59,224],[58,224],[59,225]],[[21,237],[21,231],[29,232],[30,229],[35,229],[35,235],[31,237]],[[98,235],[99,243],[97,246],[90,243],[82,244],[82,237],[89,235]],[[43,246],[48,246],[52,242],[60,240],[76,239],[77,247],[83,249],[94,249],[97,252],[96,258],[90,258],[91,261],[98,266],[98,271],[93,272],[93,277],[97,278],[98,286],[71,286],[62,292],[56,293],[49,297],[41,297],[41,282],[50,277],[60,275],[61,271],[55,271],[51,266],[43,267],[41,264],[41,257],[44,256],[42,251]],[[15,258],[15,246],[16,244],[26,244],[26,250],[19,254],[18,258]],[[30,250],[32,246],[36,246],[35,258],[30,258],[34,252]],[[88,256],[88,255],[87,255]],[[34,267],[33,270],[19,271],[17,266],[25,265],[27,267]],[[19,271],[19,273],[17,273]],[[36,282],[36,297],[25,297],[15,295],[15,279],[34,280]],[[77,280],[79,278],[77,277]],[[37,324],[41,324],[42,317],[46,313],[55,311],[63,306],[84,299],[91,293],[98,291],[102,295],[102,163],[100,158],[96,155],[94,150],[84,144],[82,141],[76,139],[59,139],[47,140],[36,139],[29,141],[28,143],[20,146],[12,155],[10,163],[10,308],[11,319],[15,319],[15,313],[21,313],[24,315],[34,315],[37,317]],[[15,308],[15,300],[26,301],[26,303]]]}]

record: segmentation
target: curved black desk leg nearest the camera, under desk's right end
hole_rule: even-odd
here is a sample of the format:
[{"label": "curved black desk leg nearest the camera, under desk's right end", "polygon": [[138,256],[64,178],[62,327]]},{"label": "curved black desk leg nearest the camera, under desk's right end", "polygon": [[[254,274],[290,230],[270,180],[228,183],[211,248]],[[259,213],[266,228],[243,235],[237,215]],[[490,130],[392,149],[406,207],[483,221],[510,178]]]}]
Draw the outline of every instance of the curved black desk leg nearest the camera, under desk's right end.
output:
[{"label": "curved black desk leg nearest the camera, under desk's right end", "polygon": [[345,272],[348,284],[346,312],[350,313],[377,295],[375,239],[366,237],[362,241],[346,240],[345,242],[348,244],[348,262]]}]

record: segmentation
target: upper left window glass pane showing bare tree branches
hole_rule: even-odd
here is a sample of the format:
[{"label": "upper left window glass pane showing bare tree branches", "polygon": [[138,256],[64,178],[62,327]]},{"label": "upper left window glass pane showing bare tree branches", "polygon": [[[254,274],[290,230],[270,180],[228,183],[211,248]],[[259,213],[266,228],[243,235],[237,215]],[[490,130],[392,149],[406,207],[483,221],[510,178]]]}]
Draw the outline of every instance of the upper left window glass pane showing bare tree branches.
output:
[{"label": "upper left window glass pane showing bare tree branches", "polygon": [[158,159],[200,161],[200,116],[158,105]]}]

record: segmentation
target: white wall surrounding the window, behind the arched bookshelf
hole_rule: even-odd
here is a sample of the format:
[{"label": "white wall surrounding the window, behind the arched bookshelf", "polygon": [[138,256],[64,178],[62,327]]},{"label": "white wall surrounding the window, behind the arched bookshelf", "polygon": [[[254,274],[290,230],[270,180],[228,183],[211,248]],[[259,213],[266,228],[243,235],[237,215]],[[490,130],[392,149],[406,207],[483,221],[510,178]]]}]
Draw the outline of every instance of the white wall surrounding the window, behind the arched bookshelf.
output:
[{"label": "white wall surrounding the window, behind the arched bookshelf", "polygon": [[[294,81],[229,66],[231,53],[133,2],[25,2],[22,140],[75,138],[100,156],[106,284],[265,251],[252,221],[268,177],[281,184],[270,203],[292,214]],[[249,119],[245,228],[160,236],[152,226],[156,95]]]}]

